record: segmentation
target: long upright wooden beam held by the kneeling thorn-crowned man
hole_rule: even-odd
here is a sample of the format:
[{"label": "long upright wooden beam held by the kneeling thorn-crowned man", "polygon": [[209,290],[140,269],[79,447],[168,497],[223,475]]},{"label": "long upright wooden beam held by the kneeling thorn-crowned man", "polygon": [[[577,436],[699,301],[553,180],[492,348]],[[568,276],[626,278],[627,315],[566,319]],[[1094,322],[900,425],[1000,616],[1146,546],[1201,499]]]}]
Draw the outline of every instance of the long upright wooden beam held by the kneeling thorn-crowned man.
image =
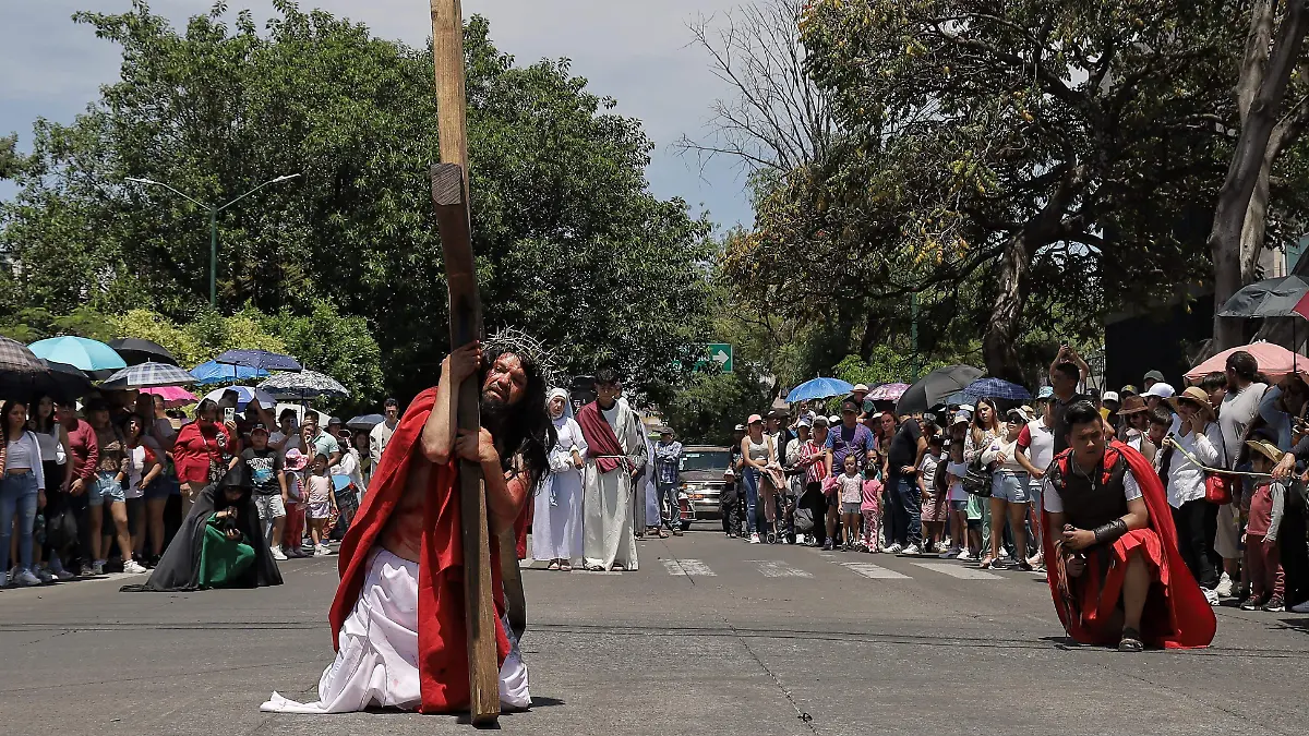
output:
[{"label": "long upright wooden beam held by the kneeling thorn-crowned man", "polygon": [[[459,0],[431,0],[432,58],[436,64],[441,164],[432,166],[432,203],[441,232],[445,280],[450,292],[452,350],[483,338],[482,299],[473,262],[469,221],[467,100],[463,81],[463,13]],[[476,375],[459,385],[459,430],[482,427]],[[470,719],[493,724],[500,716],[500,667],[496,656],[495,600],[486,487],[475,462],[459,462],[459,512],[463,519],[463,616],[469,640]]]}]

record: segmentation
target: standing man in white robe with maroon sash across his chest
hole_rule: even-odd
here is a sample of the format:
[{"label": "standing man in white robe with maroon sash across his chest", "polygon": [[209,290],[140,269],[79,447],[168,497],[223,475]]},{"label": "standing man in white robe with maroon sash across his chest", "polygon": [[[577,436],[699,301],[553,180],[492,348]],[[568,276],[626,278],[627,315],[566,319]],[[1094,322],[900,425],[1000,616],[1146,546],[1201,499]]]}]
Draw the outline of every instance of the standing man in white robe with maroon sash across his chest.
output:
[{"label": "standing man in white robe with maroon sash across his chest", "polygon": [[644,426],[619,401],[620,393],[622,384],[614,372],[601,371],[596,377],[597,399],[584,406],[577,418],[588,447],[583,470],[583,554],[590,571],[637,566],[632,485],[649,456]]}]

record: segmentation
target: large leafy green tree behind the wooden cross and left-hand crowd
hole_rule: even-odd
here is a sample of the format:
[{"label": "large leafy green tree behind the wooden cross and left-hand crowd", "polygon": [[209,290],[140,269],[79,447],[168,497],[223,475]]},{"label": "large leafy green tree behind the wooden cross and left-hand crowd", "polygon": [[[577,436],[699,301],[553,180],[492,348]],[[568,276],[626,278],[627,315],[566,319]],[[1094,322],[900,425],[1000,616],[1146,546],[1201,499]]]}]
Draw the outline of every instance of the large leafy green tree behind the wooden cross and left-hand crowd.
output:
[{"label": "large leafy green tree behind the wooden cross and left-hand crowd", "polygon": [[[313,321],[331,303],[367,321],[387,390],[412,396],[448,350],[431,50],[274,7],[262,30],[225,3],[182,31],[143,0],[76,16],[122,47],[122,79],[72,124],[37,120],[20,193],[0,208],[12,265],[0,293],[55,313],[144,305],[194,320],[208,295],[204,212],[126,177],[226,202],[300,173],[220,215],[220,309]],[[465,37],[487,325],[560,346],[568,371],[622,356],[634,384],[672,377],[708,323],[708,221],[649,193],[640,122],[613,114],[567,60],[516,65],[480,17]]]}]

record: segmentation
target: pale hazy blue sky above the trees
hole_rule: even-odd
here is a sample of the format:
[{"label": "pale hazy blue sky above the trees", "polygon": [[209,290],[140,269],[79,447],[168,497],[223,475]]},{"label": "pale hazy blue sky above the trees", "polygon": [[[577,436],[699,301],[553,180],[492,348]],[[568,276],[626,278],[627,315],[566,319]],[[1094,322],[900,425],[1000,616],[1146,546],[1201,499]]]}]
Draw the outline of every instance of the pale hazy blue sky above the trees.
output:
[{"label": "pale hazy blue sky above the trees", "polygon": [[[704,51],[690,45],[687,22],[699,14],[721,20],[747,0],[463,0],[465,17],[491,22],[496,47],[520,64],[541,58],[572,59],[589,90],[618,100],[617,111],[640,118],[656,144],[647,170],[662,199],[683,198],[694,213],[708,211],[720,227],[749,225],[753,212],[745,177],[734,161],[703,164],[673,145],[682,135],[704,140],[711,105],[732,97],[709,71]],[[229,12],[249,8],[263,25],[271,0],[228,0]],[[207,13],[212,0],[153,0],[154,13],[182,28]],[[0,0],[0,135],[17,132],[26,149],[31,122],[71,122],[118,79],[119,50],[69,18],[76,10],[124,12],[130,0]],[[412,46],[431,35],[424,0],[301,0],[368,25],[376,35]],[[435,124],[435,122],[433,122]],[[0,185],[0,198],[13,187]]]}]

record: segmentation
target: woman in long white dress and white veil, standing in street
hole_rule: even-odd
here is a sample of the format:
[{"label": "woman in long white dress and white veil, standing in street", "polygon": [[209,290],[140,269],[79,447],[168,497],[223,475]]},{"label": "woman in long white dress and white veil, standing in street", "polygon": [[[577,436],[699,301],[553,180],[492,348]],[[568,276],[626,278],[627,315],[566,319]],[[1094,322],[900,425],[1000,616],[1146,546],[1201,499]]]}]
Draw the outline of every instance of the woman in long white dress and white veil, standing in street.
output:
[{"label": "woman in long white dress and white veil, standing in street", "polygon": [[548,562],[550,570],[572,570],[581,564],[581,469],[586,440],[572,418],[568,392],[554,389],[547,398],[550,416],[559,440],[550,449],[550,474],[537,488],[535,516],[531,521],[531,557]]}]

